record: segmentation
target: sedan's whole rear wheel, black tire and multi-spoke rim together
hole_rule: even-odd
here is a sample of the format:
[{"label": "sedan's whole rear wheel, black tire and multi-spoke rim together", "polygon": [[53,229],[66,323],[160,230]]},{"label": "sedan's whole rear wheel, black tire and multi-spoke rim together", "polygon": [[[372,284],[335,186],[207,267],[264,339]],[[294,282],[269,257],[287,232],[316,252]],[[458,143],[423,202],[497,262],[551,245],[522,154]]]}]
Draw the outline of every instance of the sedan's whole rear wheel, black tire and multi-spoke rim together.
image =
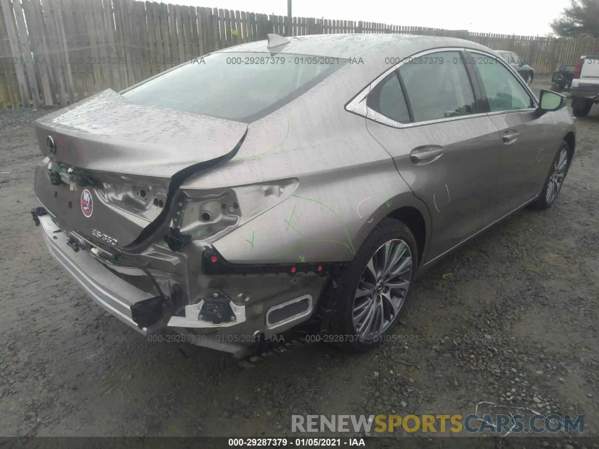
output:
[{"label": "sedan's whole rear wheel, black tire and multi-spoke rim together", "polygon": [[331,289],[330,341],[353,351],[385,341],[406,307],[417,269],[418,248],[410,228],[383,219]]}]

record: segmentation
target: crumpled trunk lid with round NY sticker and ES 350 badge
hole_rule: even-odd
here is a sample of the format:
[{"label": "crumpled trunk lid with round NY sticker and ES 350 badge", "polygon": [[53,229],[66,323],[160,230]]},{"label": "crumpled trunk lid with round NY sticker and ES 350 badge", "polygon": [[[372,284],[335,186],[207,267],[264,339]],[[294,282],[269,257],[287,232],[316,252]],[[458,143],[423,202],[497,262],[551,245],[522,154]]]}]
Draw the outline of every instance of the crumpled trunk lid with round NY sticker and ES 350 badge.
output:
[{"label": "crumpled trunk lid with round NY sticker and ES 350 badge", "polygon": [[38,119],[35,194],[59,226],[122,248],[156,229],[184,178],[234,156],[246,123],[105,90]]}]

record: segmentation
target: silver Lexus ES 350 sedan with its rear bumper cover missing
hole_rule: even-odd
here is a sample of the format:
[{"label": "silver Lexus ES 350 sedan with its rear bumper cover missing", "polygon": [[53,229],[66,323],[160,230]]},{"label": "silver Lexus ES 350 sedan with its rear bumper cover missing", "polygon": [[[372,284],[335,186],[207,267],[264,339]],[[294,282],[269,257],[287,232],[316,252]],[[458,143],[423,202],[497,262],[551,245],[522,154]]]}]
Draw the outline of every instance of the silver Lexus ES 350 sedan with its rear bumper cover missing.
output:
[{"label": "silver Lexus ES 350 sedan with its rear bumper cover missing", "polygon": [[576,141],[564,105],[470,41],[269,35],[37,120],[31,213],[143,335],[243,357],[317,323],[365,350],[417,272],[555,201]]}]

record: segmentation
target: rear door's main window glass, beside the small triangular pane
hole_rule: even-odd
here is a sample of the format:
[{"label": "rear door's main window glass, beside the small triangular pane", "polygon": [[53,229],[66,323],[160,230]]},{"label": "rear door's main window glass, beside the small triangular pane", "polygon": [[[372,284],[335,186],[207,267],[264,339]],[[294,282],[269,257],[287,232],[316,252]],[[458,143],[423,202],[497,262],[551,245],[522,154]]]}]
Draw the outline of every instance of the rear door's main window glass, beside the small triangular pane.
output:
[{"label": "rear door's main window glass, beside the small triangular pane", "polygon": [[415,122],[473,114],[474,94],[458,51],[408,60],[399,69]]}]

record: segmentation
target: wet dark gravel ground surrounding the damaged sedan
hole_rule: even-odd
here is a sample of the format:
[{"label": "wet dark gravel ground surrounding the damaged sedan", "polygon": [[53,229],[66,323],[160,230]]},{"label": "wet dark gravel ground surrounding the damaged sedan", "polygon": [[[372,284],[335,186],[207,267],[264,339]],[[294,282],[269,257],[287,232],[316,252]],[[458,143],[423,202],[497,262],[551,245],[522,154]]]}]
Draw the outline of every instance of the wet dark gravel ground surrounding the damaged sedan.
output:
[{"label": "wet dark gravel ground surrounding the damaged sedan", "polygon": [[31,124],[45,113],[0,111],[0,435],[283,436],[292,414],[466,415],[480,401],[585,414],[585,434],[599,430],[599,107],[578,120],[553,207],[520,211],[420,278],[388,344],[315,344],[241,371],[147,341],[50,257],[29,215]]}]

